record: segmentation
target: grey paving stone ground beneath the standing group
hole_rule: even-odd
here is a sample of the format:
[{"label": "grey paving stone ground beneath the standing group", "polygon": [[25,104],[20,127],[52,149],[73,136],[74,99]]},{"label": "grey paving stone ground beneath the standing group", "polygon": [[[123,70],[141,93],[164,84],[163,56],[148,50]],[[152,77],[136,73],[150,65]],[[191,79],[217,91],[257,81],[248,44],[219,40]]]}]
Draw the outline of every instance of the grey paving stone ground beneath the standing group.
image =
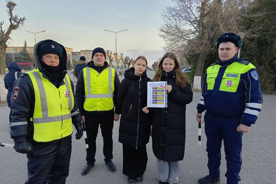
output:
[{"label": "grey paving stone ground beneath the standing group", "polygon": [[[120,76],[122,79],[123,76]],[[184,159],[180,162],[179,183],[197,184],[197,180],[208,175],[206,135],[202,125],[202,145],[198,145],[198,126],[194,118],[200,93],[195,92],[193,101],[186,110],[186,147]],[[242,151],[242,169],[240,184],[276,184],[276,135],[275,104],[276,95],[263,95],[262,111],[249,133],[244,133]],[[9,135],[9,108],[0,107],[0,142],[13,143]],[[119,122],[114,122],[113,162],[116,172],[108,171],[103,156],[103,139],[100,129],[97,137],[95,166],[90,172],[81,176],[85,166],[85,141],[72,138],[72,156],[70,171],[66,183],[70,184],[119,184],[127,183],[127,176],[122,174],[122,144],[118,142]],[[73,135],[75,134],[75,130]],[[152,152],[152,140],[147,144],[148,162],[144,173],[145,184],[158,184],[156,158]],[[226,184],[226,161],[222,147],[221,180]],[[27,158],[12,148],[0,147],[0,184],[24,183],[27,179]]]}]

